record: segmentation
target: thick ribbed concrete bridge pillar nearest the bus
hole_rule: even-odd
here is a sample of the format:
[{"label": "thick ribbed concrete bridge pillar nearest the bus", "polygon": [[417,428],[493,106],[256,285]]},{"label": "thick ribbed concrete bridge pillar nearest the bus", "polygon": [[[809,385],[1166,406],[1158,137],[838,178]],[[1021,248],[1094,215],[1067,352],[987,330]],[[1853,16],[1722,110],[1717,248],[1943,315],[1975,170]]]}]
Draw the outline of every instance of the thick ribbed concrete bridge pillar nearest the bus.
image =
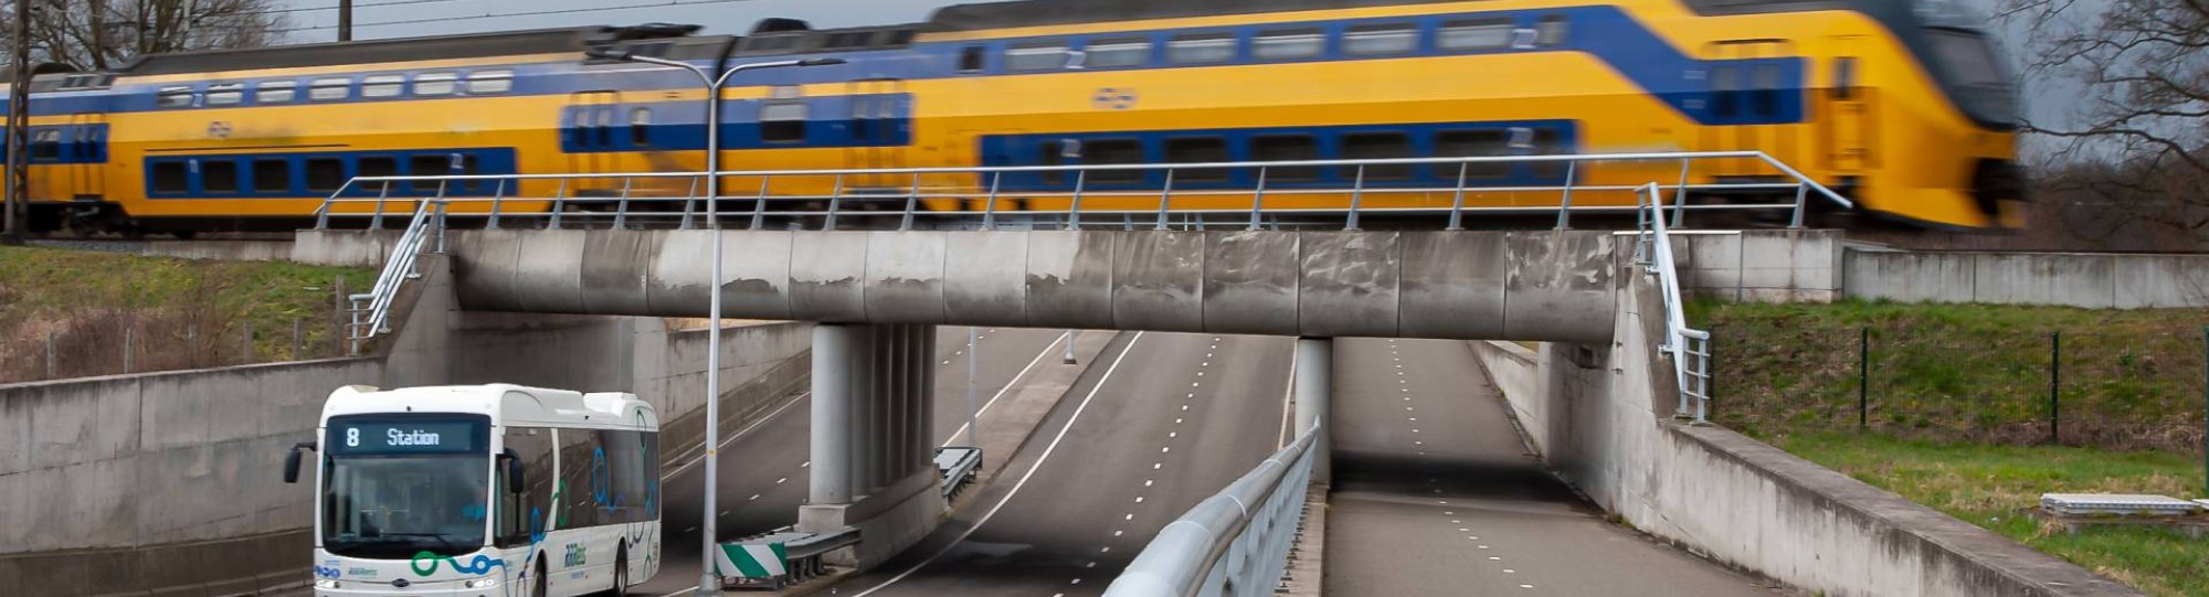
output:
[{"label": "thick ribbed concrete bridge pillar nearest the bus", "polygon": [[859,528],[824,562],[873,566],[934,531],[934,325],[813,327],[813,493],[797,531]]}]

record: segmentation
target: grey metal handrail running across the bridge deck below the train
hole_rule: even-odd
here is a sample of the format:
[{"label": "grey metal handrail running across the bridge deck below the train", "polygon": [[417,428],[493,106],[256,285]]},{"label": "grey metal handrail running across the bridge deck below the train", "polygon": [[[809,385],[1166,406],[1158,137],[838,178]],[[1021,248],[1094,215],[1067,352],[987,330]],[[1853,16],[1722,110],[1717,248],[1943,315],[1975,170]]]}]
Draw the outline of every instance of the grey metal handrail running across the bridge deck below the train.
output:
[{"label": "grey metal handrail running across the bridge deck below the train", "polygon": [[[1761,161],[1769,172],[1761,179],[1741,181],[1716,181],[1716,184],[1690,184],[1694,161],[1710,159],[1750,159]],[[1710,153],[1595,153],[1595,155],[1504,155],[1504,157],[1405,157],[1405,159],[1297,159],[1297,161],[1204,161],[1204,164],[1082,164],[1082,166],[954,166],[954,168],[824,168],[824,170],[722,170],[718,177],[755,177],[760,188],[755,195],[720,195],[720,197],[698,197],[698,179],[709,177],[709,172],[566,172],[566,175],[444,175],[444,177],[356,177],[347,181],[338,192],[316,208],[316,228],[327,228],[331,219],[376,219],[387,210],[387,203],[413,203],[426,199],[391,197],[393,188],[429,188],[435,181],[437,197],[448,203],[466,203],[471,210],[455,212],[453,217],[475,217],[488,219],[488,226],[497,226],[501,217],[515,214],[539,214],[539,212],[515,212],[512,203],[541,203],[550,201],[554,208],[548,217],[550,228],[559,228],[563,217],[605,217],[616,226],[630,226],[630,219],[665,219],[663,226],[680,228],[696,226],[696,201],[753,201],[753,206],[742,210],[722,210],[738,219],[749,217],[753,228],[762,226],[764,217],[808,217],[822,219],[824,228],[835,228],[839,217],[897,217],[899,228],[912,226],[915,217],[983,217],[985,228],[994,228],[1001,214],[1027,214],[1027,217],[1063,217],[1067,228],[1078,228],[1085,217],[1093,214],[1118,214],[1133,219],[1138,214],[1155,217],[1158,226],[1166,226],[1171,214],[1206,212],[1206,214],[1250,214],[1250,226],[1259,226],[1264,214],[1345,214],[1347,228],[1354,228],[1359,214],[1385,214],[1385,212],[1431,212],[1449,214],[1449,230],[1460,230],[1460,217],[1467,212],[1555,212],[1557,228],[1571,226],[1571,214],[1575,212],[1621,212],[1624,206],[1588,206],[1586,199],[1577,199],[1575,192],[1632,192],[1635,186],[1619,184],[1582,184],[1586,168],[1579,164],[1593,161],[1650,161],[1650,164],[1679,164],[1679,184],[1668,184],[1677,190],[1767,190],[1780,195],[1794,190],[1794,201],[1774,201],[1756,206],[1674,206],[1674,210],[1794,210],[1791,228],[1800,228],[1805,212],[1809,210],[1809,197],[1816,195],[1820,201],[1833,206],[1853,208],[1856,203],[1833,192],[1831,188],[1809,179],[1796,168],[1780,164],[1778,159],[1761,150],[1710,150]],[[1537,175],[1535,184],[1507,181],[1504,186],[1484,186],[1493,179],[1469,177],[1476,166],[1524,166],[1524,164],[1562,164],[1551,166],[1562,170],[1562,179],[1555,172]],[[1378,166],[1436,166],[1438,179],[1447,179],[1449,166],[1456,166],[1456,184],[1403,184],[1403,181],[1370,181],[1370,168]],[[1283,168],[1354,168],[1356,175],[1343,175],[1352,181],[1294,181],[1283,184]],[[1650,166],[1641,166],[1650,168]],[[1109,181],[1100,172],[1162,172],[1169,181],[1155,186],[1155,179],[1142,184]],[[1188,175],[1188,170],[1239,170],[1255,175],[1255,188],[1248,184],[1235,184],[1224,188],[1222,179]],[[1350,170],[1341,170],[1350,172]],[[1027,190],[1003,188],[1007,177],[1029,177]],[[1038,177],[1054,175],[1054,177]],[[945,181],[945,177],[952,177]],[[791,181],[815,179],[817,188],[835,188],[828,195],[773,195],[771,186],[782,181],[786,188]],[[1107,179],[1107,181],[1098,181]],[[444,188],[462,188],[473,184],[475,190],[493,188],[488,181],[497,181],[495,192],[484,192],[486,197],[453,197]],[[559,181],[559,192],[552,197],[528,197],[524,184],[530,181]],[[877,186],[855,186],[850,181],[877,181]],[[895,181],[895,184],[892,184]],[[1549,184],[1557,181],[1557,184]],[[884,186],[886,184],[886,186]],[[1071,184],[1071,186],[1069,186]],[[607,197],[585,197],[588,192],[577,188],[603,186],[601,195]],[[616,192],[619,190],[619,192]],[[550,192],[543,186],[532,192]],[[820,190],[813,190],[820,192]],[[1524,192],[1557,192],[1557,203],[1540,206],[1515,201],[1509,208],[1480,208],[1465,206],[1467,192],[1480,195],[1524,195]],[[426,192],[424,192],[426,195]],[[619,197],[616,197],[619,195]],[[1001,210],[998,197],[1021,197],[1029,201],[1051,201],[1063,206],[1051,208],[1018,208]],[[1301,197],[1301,195],[1350,195],[1354,197],[1347,206],[1339,208],[1268,208],[1266,197]],[[1248,210],[1188,210],[1173,208],[1175,197],[1255,197]],[[1423,197],[1420,201],[1440,201],[1445,206],[1376,206],[1385,197]],[[959,201],[959,210],[930,210],[923,201]],[[1144,208],[1096,206],[1096,199],[1151,199]],[[968,208],[972,201],[983,201],[981,208]],[[1091,203],[1091,208],[1082,208]],[[373,203],[373,208],[369,208]],[[641,206],[632,206],[641,203]],[[674,208],[672,203],[680,203]],[[826,208],[822,208],[824,203]],[[358,208],[356,208],[358,206]],[[488,206],[488,210],[484,210]],[[667,206],[667,208],[663,208]],[[568,212],[570,208],[599,208],[601,212]],[[873,210],[868,210],[873,208]],[[1096,221],[1096,219],[1091,219]],[[1149,223],[1149,219],[1144,219]]]}]

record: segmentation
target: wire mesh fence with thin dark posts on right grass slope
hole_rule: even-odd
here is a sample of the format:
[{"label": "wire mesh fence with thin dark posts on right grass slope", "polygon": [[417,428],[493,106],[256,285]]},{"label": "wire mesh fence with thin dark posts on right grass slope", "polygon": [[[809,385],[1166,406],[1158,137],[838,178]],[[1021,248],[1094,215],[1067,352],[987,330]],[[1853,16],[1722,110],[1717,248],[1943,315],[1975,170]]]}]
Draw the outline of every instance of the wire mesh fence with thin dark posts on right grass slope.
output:
[{"label": "wire mesh fence with thin dark posts on right grass slope", "polygon": [[[2209,329],[1942,329],[1727,323],[1712,416],[1997,444],[2202,451]],[[1732,349],[1727,349],[1732,347]]]}]

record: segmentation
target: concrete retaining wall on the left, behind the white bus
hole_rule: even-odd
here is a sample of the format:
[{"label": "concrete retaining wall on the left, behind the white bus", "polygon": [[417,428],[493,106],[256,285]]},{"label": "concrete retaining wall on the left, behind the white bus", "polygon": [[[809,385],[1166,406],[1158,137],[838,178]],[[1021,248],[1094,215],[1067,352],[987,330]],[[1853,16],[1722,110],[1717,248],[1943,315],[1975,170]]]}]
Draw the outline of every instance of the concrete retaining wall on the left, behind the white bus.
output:
[{"label": "concrete retaining wall on the left, behind the white bus", "polygon": [[[232,595],[307,579],[311,489],[283,458],[340,385],[519,383],[634,391],[663,444],[705,433],[707,332],[658,318],[459,312],[442,259],[382,358],[0,387],[0,595]],[[806,325],[722,334],[722,413],[806,385]],[[733,429],[733,427],[729,427]],[[683,449],[667,449],[669,460]]]}]

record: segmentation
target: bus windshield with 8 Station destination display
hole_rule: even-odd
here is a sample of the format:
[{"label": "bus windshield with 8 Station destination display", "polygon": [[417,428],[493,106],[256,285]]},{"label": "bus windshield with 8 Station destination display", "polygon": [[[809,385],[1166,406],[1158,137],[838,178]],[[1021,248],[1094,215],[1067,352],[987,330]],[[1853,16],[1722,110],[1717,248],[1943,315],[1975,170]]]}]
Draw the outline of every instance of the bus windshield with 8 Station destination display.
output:
[{"label": "bus windshield with 8 Station destination display", "polygon": [[486,425],[471,420],[334,422],[323,469],[323,548],[406,559],[484,548],[490,506]]}]

